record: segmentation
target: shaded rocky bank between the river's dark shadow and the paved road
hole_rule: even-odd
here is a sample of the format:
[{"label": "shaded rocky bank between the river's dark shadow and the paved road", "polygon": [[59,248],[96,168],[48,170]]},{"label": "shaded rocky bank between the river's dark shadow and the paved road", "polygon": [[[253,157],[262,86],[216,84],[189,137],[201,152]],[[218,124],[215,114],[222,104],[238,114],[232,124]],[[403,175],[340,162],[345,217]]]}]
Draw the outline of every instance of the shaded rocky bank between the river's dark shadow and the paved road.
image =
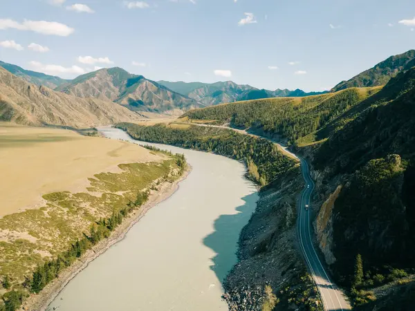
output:
[{"label": "shaded rocky bank between the river's dark shadow and the paved road", "polygon": [[293,169],[261,189],[239,237],[239,262],[223,284],[230,310],[320,310],[297,246],[296,205],[303,186],[299,169]]}]

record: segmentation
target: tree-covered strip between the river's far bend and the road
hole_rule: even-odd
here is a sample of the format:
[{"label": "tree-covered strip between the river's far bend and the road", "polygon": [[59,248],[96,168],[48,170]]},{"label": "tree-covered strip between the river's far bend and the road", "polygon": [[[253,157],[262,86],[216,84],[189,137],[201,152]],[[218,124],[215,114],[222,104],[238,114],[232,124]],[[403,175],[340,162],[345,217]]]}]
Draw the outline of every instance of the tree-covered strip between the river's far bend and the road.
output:
[{"label": "tree-covered strip between the river's far bend and the road", "polygon": [[272,142],[228,129],[182,124],[140,126],[120,123],[116,126],[137,140],[209,151],[241,160],[248,167],[248,177],[261,185],[296,165],[295,160],[284,156]]}]

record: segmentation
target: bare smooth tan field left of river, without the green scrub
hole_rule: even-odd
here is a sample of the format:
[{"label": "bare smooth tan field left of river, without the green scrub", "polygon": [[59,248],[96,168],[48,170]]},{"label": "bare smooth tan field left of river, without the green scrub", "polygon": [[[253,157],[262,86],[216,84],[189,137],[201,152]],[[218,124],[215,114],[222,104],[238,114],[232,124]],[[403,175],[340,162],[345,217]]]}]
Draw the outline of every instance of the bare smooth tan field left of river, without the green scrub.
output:
[{"label": "bare smooth tan field left of river, without the green scrub", "polygon": [[40,207],[50,192],[83,191],[86,178],[118,164],[161,159],[127,142],[0,123],[0,217]]}]

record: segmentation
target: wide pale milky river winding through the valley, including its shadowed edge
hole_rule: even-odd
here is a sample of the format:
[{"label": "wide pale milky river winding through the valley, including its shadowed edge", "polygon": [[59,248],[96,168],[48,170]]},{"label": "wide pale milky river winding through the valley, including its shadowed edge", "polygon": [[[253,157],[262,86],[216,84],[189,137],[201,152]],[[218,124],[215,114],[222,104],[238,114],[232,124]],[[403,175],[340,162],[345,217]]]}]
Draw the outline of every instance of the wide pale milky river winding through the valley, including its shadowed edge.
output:
[{"label": "wide pale milky river winding through the valley, including its shadowed edge", "polygon": [[[138,142],[109,126],[99,131]],[[228,310],[221,281],[237,263],[239,232],[256,207],[257,188],[235,160],[151,145],[184,153],[192,172],[124,240],[77,274],[48,310]]]}]

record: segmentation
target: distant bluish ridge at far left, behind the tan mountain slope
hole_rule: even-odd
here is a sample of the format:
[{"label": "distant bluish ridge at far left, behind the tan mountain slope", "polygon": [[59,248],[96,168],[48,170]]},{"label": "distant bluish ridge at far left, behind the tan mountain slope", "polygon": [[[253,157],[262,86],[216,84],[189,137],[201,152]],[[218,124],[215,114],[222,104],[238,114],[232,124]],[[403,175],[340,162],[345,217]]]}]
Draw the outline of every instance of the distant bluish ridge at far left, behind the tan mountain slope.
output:
[{"label": "distant bluish ridge at far left, behind the tan mountain slope", "polygon": [[38,86],[47,86],[48,88],[56,88],[57,86],[68,83],[68,80],[53,75],[46,75],[44,73],[37,73],[36,71],[26,70],[16,65],[7,64],[0,61],[0,67],[8,70],[13,75],[21,77],[29,83],[36,84]]}]

